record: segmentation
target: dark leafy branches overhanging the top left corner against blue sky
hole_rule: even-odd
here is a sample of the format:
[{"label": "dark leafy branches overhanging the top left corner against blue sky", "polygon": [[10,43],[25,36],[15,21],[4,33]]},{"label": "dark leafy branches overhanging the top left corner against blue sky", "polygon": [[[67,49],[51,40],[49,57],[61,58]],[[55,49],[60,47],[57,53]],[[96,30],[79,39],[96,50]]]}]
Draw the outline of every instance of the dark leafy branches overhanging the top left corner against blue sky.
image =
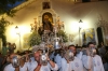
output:
[{"label": "dark leafy branches overhanging the top left corner against blue sky", "polygon": [[23,1],[25,0],[0,0],[0,15],[6,13],[6,15],[13,17],[16,10],[12,9]]}]

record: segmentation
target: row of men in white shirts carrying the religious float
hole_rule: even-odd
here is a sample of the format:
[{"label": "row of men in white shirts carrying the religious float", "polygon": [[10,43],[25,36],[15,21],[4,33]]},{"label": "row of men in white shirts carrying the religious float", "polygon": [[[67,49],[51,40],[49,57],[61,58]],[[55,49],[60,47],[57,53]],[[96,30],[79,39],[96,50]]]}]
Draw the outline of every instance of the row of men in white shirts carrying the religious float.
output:
[{"label": "row of men in white shirts carrying the religious float", "polygon": [[[5,66],[2,66],[0,71],[108,71],[106,58],[104,55],[97,55],[93,42],[89,42],[82,48],[69,45],[45,52],[45,55],[43,53],[44,51],[38,49],[32,56],[28,56],[29,52],[25,52],[23,53],[25,57],[22,54],[11,53],[6,56]],[[15,56],[19,60],[17,67],[13,65]]]}]

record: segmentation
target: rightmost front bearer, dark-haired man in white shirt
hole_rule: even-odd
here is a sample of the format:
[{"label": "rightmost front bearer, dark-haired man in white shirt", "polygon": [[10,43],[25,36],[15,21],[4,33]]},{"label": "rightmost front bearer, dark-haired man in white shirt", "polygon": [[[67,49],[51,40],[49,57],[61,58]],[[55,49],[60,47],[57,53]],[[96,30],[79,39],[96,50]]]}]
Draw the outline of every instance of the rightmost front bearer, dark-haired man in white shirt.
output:
[{"label": "rightmost front bearer, dark-haired man in white shirt", "polygon": [[96,55],[95,44],[89,42],[86,55],[82,55],[84,71],[105,71],[100,56]]}]

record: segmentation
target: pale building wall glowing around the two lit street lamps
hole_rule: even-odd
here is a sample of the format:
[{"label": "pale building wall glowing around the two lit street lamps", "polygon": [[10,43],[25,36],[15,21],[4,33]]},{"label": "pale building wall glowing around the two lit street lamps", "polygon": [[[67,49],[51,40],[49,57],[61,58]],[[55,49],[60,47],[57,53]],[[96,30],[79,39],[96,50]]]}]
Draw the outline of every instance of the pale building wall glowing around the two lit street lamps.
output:
[{"label": "pale building wall glowing around the two lit street lamps", "polygon": [[[52,9],[55,11],[60,20],[65,23],[65,31],[67,34],[75,34],[73,44],[79,44],[79,20],[82,19],[81,32],[83,29],[94,28],[96,36],[96,23],[98,23],[99,15],[105,20],[108,18],[108,1],[87,2],[87,3],[76,3],[63,0],[52,0]],[[40,15],[42,11],[41,0],[35,1],[33,3],[25,6],[16,13],[13,18],[8,17],[10,22],[14,24],[9,26],[6,29],[8,42],[16,43],[17,49],[19,48],[19,37],[15,32],[15,26],[19,27],[22,48],[24,47],[23,37],[30,33],[30,24],[33,24],[33,18]],[[80,32],[80,36],[81,36]],[[80,37],[82,38],[82,37]]]}]

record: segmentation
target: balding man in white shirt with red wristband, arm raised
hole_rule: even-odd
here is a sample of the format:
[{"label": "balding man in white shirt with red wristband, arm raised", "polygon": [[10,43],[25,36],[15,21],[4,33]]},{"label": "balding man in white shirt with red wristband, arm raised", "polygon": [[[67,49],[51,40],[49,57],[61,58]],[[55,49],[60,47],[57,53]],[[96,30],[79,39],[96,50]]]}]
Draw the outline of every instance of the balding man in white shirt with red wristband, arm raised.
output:
[{"label": "balding man in white shirt with red wristband, arm raised", "polygon": [[40,60],[41,60],[41,53],[40,52],[36,52],[35,53],[35,60],[36,61],[31,61],[29,62],[29,66],[31,68],[29,68],[29,71],[51,71],[51,70],[58,70],[58,67],[55,62],[53,62],[52,60],[50,60],[50,58],[46,56],[46,60],[48,60],[48,65],[43,66]]}]

